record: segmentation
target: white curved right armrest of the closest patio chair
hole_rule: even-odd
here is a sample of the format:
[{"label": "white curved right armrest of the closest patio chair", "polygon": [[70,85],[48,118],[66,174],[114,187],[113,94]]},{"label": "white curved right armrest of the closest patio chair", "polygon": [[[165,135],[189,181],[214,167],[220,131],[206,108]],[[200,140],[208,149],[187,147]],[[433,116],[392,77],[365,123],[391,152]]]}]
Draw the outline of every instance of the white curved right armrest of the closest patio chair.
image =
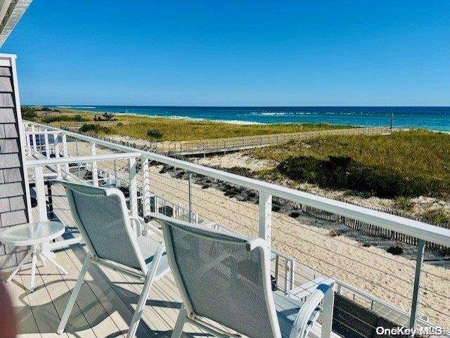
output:
[{"label": "white curved right armrest of the closest patio chair", "polygon": [[322,314],[321,338],[330,338],[334,306],[333,285],[334,280],[325,280],[312,292],[295,318],[290,338],[306,338],[320,314]]}]

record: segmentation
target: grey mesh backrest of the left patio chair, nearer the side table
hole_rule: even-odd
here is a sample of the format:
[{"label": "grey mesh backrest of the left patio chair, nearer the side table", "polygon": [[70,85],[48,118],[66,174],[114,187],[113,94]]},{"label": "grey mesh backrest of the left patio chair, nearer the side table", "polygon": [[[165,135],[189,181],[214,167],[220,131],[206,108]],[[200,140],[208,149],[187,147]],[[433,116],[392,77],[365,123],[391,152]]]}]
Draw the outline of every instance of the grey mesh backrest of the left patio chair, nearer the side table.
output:
[{"label": "grey mesh backrest of the left patio chair, nearer the side table", "polygon": [[127,203],[116,188],[57,181],[65,187],[70,212],[90,254],[148,272],[131,228]]}]

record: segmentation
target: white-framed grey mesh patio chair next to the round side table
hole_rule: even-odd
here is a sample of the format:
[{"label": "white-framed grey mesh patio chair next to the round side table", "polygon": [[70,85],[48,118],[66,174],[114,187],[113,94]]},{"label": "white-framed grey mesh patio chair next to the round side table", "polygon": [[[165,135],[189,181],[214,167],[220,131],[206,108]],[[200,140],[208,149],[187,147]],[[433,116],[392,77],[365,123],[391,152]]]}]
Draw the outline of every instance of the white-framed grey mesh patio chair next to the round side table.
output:
[{"label": "white-framed grey mesh patio chair next to the round side table", "polygon": [[[143,280],[143,290],[127,334],[127,338],[134,337],[152,282],[169,271],[164,243],[134,232],[131,227],[133,218],[128,214],[127,204],[120,190],[67,181],[56,183],[65,187],[70,212],[88,252],[58,326],[58,334],[65,329],[89,266],[96,264]],[[158,233],[159,229],[148,228]],[[160,230],[159,234],[162,235]]]}]

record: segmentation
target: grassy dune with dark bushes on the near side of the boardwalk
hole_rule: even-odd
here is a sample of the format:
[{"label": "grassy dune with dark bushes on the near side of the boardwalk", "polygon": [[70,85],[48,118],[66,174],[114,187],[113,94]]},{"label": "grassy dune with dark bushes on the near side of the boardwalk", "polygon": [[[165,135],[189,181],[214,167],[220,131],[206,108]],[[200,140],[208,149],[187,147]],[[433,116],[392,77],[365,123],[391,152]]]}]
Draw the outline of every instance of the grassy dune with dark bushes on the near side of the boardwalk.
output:
[{"label": "grassy dune with dark bushes on the near side of the boardwalk", "polygon": [[[276,174],[361,195],[407,197],[450,194],[450,135],[397,131],[390,136],[326,136],[249,150],[276,160]],[[399,199],[404,197],[404,199]]]}]

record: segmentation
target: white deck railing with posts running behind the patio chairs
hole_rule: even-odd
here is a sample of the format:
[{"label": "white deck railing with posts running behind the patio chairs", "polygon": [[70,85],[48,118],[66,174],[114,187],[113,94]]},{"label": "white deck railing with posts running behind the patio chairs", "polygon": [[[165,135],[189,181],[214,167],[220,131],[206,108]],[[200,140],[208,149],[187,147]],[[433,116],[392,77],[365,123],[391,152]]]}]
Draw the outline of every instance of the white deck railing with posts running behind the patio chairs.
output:
[{"label": "white deck railing with posts running behind the patio chairs", "polygon": [[[85,163],[89,164],[89,168],[92,172],[92,183],[98,185],[98,171],[108,171],[105,169],[100,169],[98,167],[99,162],[113,161],[114,173],[108,171],[108,175],[113,176],[114,181],[117,183],[117,161],[122,160],[127,161],[127,186],[129,188],[129,203],[131,214],[137,216],[138,214],[138,200],[141,200],[142,215],[146,216],[151,212],[150,197],[153,197],[154,208],[158,210],[158,200],[165,200],[166,203],[172,203],[176,206],[176,201],[170,202],[167,198],[155,196],[152,192],[152,181],[150,180],[150,163],[156,162],[158,164],[165,164],[170,167],[177,169],[183,169],[188,173],[195,173],[199,176],[206,176],[215,181],[223,181],[230,183],[235,186],[247,188],[249,190],[257,191],[258,195],[258,209],[259,209],[259,219],[258,223],[258,234],[261,238],[266,240],[267,244],[271,246],[272,240],[272,197],[279,197],[285,200],[290,200],[293,202],[302,203],[309,205],[310,207],[315,207],[317,209],[322,209],[323,211],[330,212],[333,214],[338,214],[340,216],[345,216],[351,219],[356,219],[366,223],[370,223],[374,226],[379,226],[381,228],[386,228],[393,230],[397,233],[403,233],[405,235],[413,236],[418,238],[418,251],[416,259],[415,276],[413,282],[413,294],[411,297],[411,310],[408,312],[399,310],[395,306],[390,306],[385,301],[378,299],[377,297],[372,297],[367,292],[359,290],[351,285],[347,285],[345,282],[338,281],[338,291],[346,290],[346,292],[352,292],[352,294],[357,295],[363,299],[368,299],[371,302],[371,308],[374,304],[379,306],[389,307],[390,311],[397,311],[401,316],[409,317],[409,326],[415,327],[416,324],[420,325],[430,325],[427,320],[423,318],[418,318],[417,306],[419,300],[420,291],[420,279],[422,277],[423,270],[423,254],[425,249],[425,242],[434,242],[445,247],[450,247],[450,230],[439,228],[437,226],[431,226],[426,223],[419,221],[414,221],[411,219],[405,219],[399,216],[394,216],[391,214],[385,214],[383,212],[378,212],[372,209],[367,209],[365,207],[359,207],[354,204],[347,204],[345,202],[339,202],[336,200],[331,200],[326,197],[321,197],[317,195],[312,195],[310,193],[304,193],[299,190],[294,190],[290,188],[285,188],[282,186],[277,186],[275,184],[266,183],[264,181],[258,181],[253,178],[238,176],[236,174],[230,174],[225,171],[219,171],[217,169],[212,169],[208,167],[203,167],[198,164],[193,164],[190,162],[177,160],[172,157],[167,157],[164,155],[158,155],[153,152],[146,152],[143,150],[136,150],[134,148],[129,148],[124,145],[119,145],[117,143],[111,143],[108,141],[102,141],[97,138],[92,138],[90,136],[84,136],[76,134],[70,131],[63,131],[60,129],[54,129],[50,126],[43,124],[35,124],[32,122],[25,122],[27,129],[27,154],[29,159],[27,160],[27,167],[34,169],[34,182],[36,183],[36,193],[38,200],[38,210],[39,217],[46,216],[46,205],[45,205],[45,193],[44,193],[44,169],[53,168],[53,176],[61,177],[70,175],[69,164],[75,163]],[[37,135],[40,135],[37,137]],[[54,144],[53,147],[48,141],[46,136],[53,135]],[[37,145],[37,139],[44,136],[44,145],[40,148]],[[70,156],[68,150],[68,138],[73,142],[76,142],[76,149],[78,152],[78,142],[84,142],[89,144],[89,155],[79,156],[78,154]],[[63,148],[60,149],[60,146]],[[107,148],[110,152],[115,151],[115,153],[110,153],[108,155],[102,155],[97,153],[98,147]],[[45,156],[42,154],[45,153]],[[50,154],[53,153],[55,158],[50,158]],[[40,154],[40,155],[39,155]],[[31,158],[34,157],[34,160]],[[139,171],[136,169],[136,164],[141,165]],[[64,169],[61,168],[64,167]],[[198,218],[199,216],[195,214],[193,210],[192,200],[193,195],[191,193],[191,174],[188,180],[188,215],[190,218]],[[138,189],[138,176],[140,178],[140,185]],[[112,179],[109,179],[112,181]],[[139,195],[138,190],[141,195]],[[44,197],[43,197],[44,196]],[[162,205],[162,204],[161,204]],[[45,216],[44,216],[45,215]],[[212,220],[214,221],[214,220]],[[285,266],[282,269],[285,273],[284,278],[284,291],[289,294],[293,292],[295,279],[295,259],[290,258],[288,255],[283,255],[281,252],[274,250],[276,259],[276,275],[278,277],[278,260],[284,259]],[[449,298],[450,299],[450,298]],[[439,323],[437,323],[439,324]]]}]

